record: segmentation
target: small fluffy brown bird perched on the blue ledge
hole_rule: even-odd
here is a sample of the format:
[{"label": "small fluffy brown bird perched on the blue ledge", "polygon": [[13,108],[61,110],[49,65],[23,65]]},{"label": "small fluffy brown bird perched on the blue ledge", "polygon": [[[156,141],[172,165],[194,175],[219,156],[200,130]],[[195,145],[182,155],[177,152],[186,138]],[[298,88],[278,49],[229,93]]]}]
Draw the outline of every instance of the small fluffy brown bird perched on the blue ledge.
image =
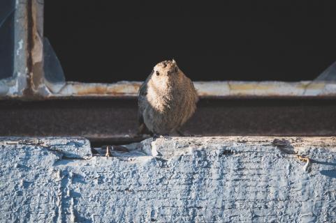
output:
[{"label": "small fluffy brown bird perched on the blue ledge", "polygon": [[180,128],[195,112],[197,101],[193,82],[174,60],[156,64],[139,89],[139,132],[147,127],[154,135],[182,134]]}]

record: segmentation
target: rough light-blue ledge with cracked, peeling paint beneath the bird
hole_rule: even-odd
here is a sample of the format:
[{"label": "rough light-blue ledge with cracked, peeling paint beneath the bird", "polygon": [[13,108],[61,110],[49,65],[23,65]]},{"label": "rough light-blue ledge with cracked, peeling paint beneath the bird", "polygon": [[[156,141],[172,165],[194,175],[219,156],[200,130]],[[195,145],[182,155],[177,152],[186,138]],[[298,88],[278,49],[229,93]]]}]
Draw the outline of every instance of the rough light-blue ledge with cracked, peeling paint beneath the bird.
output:
[{"label": "rough light-blue ledge with cracked, peeling paint beneath the bird", "polygon": [[336,138],[274,139],[1,139],[0,222],[336,222]]}]

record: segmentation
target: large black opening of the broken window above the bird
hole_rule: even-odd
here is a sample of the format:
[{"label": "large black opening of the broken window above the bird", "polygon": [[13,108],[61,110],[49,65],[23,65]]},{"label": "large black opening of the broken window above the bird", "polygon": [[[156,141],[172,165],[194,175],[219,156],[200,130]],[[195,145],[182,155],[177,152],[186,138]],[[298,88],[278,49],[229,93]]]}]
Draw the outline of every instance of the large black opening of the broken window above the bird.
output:
[{"label": "large black opening of the broken window above the bird", "polygon": [[336,61],[336,1],[46,0],[68,81],[144,80],[175,59],[194,81],[314,79]]}]

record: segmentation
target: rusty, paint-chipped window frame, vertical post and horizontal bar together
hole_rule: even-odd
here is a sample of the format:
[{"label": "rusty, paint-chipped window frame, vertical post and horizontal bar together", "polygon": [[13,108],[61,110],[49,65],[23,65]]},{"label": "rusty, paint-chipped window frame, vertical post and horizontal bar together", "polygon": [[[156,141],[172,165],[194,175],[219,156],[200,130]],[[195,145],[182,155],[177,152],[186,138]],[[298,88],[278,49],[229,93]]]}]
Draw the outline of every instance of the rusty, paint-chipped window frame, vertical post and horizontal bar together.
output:
[{"label": "rusty, paint-chipped window frame, vertical post and horizontal bar together", "polygon": [[[16,1],[15,74],[0,81],[0,98],[40,100],[48,98],[133,98],[141,82],[111,84],[66,82],[58,92],[50,90],[43,73],[43,0]],[[194,82],[201,98],[330,98],[335,82]],[[49,87],[48,87],[49,86]]]}]

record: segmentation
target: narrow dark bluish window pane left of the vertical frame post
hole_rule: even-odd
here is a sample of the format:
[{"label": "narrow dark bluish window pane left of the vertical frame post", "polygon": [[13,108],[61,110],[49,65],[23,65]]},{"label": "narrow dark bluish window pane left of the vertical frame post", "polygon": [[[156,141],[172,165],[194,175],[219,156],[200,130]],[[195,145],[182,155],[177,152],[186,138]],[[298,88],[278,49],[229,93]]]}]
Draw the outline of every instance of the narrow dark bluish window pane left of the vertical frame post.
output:
[{"label": "narrow dark bluish window pane left of the vertical frame post", "polygon": [[14,16],[15,1],[0,2],[0,79],[12,77],[14,72]]}]

